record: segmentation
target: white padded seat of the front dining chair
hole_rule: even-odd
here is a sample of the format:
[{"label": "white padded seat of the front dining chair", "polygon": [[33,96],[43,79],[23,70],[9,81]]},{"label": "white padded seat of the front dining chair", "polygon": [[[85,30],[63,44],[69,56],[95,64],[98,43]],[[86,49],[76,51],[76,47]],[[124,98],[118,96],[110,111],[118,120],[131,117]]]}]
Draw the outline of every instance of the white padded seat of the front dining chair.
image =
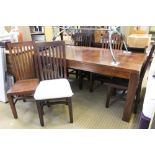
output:
[{"label": "white padded seat of the front dining chair", "polygon": [[73,92],[67,79],[41,81],[35,91],[35,100],[71,97]]}]

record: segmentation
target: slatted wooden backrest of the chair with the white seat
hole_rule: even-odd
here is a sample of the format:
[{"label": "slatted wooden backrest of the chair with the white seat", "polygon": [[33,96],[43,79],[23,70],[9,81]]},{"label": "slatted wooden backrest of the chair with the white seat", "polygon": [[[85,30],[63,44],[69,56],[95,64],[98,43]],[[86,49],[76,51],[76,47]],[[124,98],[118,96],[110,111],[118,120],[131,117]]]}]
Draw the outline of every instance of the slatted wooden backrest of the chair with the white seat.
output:
[{"label": "slatted wooden backrest of the chair with the white seat", "polygon": [[35,50],[40,80],[67,77],[64,41],[36,43]]}]

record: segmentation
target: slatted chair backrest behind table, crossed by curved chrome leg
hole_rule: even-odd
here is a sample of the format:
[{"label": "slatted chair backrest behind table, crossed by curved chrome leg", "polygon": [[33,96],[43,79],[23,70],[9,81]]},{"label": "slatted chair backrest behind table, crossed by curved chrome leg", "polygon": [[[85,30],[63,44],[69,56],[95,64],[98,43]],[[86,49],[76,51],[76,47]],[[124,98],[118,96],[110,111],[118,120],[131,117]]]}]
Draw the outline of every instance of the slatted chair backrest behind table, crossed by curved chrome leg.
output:
[{"label": "slatted chair backrest behind table, crossed by curved chrome leg", "polygon": [[[111,36],[111,43],[113,49],[121,50],[123,48],[122,37],[118,34]],[[109,33],[105,33],[102,37],[102,48],[109,48]]]}]

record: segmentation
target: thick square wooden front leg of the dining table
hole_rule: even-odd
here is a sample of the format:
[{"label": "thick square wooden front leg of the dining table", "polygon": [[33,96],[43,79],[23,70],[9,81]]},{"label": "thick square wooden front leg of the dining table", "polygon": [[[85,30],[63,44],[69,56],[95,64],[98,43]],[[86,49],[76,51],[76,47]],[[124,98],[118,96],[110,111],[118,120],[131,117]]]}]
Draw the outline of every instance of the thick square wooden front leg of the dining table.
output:
[{"label": "thick square wooden front leg of the dining table", "polygon": [[134,104],[134,99],[135,99],[135,94],[136,94],[136,89],[138,86],[138,80],[139,80],[138,74],[132,73],[130,75],[127,99],[126,99],[126,103],[125,103],[125,107],[123,111],[123,117],[122,117],[122,120],[126,122],[130,121],[130,117],[132,114],[132,107]]}]

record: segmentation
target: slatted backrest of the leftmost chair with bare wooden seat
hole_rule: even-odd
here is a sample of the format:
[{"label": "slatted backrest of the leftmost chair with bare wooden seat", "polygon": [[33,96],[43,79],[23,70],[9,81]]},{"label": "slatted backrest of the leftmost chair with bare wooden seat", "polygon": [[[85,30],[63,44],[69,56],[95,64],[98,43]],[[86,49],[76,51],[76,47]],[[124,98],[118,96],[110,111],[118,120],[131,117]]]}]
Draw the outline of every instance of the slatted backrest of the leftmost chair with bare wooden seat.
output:
[{"label": "slatted backrest of the leftmost chair with bare wooden seat", "polygon": [[34,42],[8,43],[7,46],[15,80],[35,78]]}]

